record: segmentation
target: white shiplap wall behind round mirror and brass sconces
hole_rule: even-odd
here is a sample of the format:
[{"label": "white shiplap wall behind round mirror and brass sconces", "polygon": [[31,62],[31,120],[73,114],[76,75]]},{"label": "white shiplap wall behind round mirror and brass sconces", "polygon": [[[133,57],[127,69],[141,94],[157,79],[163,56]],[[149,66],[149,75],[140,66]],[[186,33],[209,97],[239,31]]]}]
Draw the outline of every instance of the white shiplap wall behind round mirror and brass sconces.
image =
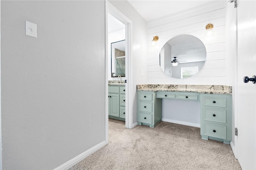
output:
[{"label": "white shiplap wall behind round mirror and brass sconces", "polygon": [[[226,85],[225,13],[225,2],[218,1],[182,14],[149,21],[147,24],[147,83]],[[205,26],[208,23],[214,25],[212,36],[207,36]],[[159,52],[162,46],[172,37],[180,34],[199,38],[204,43],[207,53],[202,69],[187,79],[168,77],[159,66]],[[155,46],[151,45],[153,36],[159,37]]]}]

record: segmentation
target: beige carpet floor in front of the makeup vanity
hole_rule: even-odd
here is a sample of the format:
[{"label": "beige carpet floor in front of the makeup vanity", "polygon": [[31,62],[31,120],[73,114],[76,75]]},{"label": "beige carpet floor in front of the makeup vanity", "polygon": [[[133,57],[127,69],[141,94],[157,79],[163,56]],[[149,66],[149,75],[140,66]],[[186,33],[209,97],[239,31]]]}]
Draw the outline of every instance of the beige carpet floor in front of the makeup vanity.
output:
[{"label": "beige carpet floor in front of the makeup vanity", "polygon": [[230,145],[202,140],[200,128],[161,122],[112,136],[70,170],[241,170]]}]

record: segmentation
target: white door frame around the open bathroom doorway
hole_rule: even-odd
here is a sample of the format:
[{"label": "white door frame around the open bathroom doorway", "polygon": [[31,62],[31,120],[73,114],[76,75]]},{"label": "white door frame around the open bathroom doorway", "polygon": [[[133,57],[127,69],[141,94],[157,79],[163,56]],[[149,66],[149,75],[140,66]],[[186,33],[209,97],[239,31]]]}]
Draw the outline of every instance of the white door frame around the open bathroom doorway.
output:
[{"label": "white door frame around the open bathroom doorway", "polygon": [[132,57],[131,57],[131,28],[132,28],[132,21],[127,18],[122,12],[120,12],[116,7],[114,7],[110,2],[107,0],[106,2],[106,9],[105,9],[105,117],[106,117],[106,143],[108,144],[108,13],[118,19],[120,22],[125,24],[125,49],[126,51],[126,58],[125,58],[125,77],[127,83],[125,83],[125,127],[132,128]]}]

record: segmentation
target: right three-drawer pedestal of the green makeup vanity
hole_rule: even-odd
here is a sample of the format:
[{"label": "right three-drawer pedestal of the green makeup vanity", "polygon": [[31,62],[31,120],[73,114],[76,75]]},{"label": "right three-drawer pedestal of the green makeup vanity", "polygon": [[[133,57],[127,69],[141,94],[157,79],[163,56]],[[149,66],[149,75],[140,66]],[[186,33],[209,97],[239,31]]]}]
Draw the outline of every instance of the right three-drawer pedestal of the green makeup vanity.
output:
[{"label": "right three-drawer pedestal of the green makeup vanity", "polygon": [[232,96],[201,94],[200,126],[202,139],[232,140]]}]

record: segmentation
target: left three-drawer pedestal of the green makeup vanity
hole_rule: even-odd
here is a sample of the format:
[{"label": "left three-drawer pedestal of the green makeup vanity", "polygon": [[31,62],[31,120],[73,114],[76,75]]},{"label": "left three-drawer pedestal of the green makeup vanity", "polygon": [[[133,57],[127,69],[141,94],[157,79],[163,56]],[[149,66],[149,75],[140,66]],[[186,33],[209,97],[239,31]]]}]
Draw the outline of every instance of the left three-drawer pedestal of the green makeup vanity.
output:
[{"label": "left three-drawer pedestal of the green makeup vanity", "polygon": [[162,101],[154,91],[137,91],[138,125],[155,127],[162,120]]}]

